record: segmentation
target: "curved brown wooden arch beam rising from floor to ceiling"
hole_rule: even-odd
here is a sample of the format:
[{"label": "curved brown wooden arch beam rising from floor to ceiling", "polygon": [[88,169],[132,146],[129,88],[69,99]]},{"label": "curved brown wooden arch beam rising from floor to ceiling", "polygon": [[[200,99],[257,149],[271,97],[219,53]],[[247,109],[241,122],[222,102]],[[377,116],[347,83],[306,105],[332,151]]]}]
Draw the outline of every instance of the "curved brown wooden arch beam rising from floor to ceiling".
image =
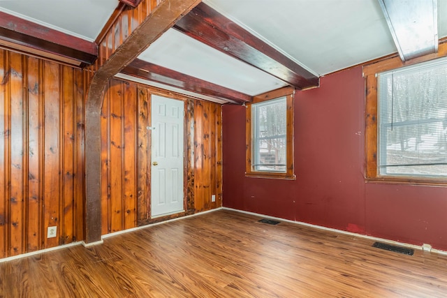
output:
[{"label": "curved brown wooden arch beam rising from floor to ceiling", "polygon": [[104,89],[116,75],[166,32],[200,0],[163,0],[98,68],[91,80],[85,106],[85,243],[101,240],[101,106]]}]

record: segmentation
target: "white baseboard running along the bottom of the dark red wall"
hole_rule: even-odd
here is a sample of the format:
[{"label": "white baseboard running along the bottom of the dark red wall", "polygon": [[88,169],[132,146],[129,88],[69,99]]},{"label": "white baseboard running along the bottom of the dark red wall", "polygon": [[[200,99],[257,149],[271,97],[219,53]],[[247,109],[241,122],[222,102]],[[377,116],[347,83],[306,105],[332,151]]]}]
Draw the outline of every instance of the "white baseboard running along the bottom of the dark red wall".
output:
[{"label": "white baseboard running along the bottom of the dark red wall", "polygon": [[[303,223],[302,221],[291,221],[290,219],[285,219],[285,218],[280,218],[280,217],[275,217],[275,216],[268,216],[268,215],[265,215],[265,214],[258,214],[258,213],[255,213],[255,212],[238,210],[238,209],[233,209],[233,208],[228,208],[228,207],[222,207],[222,209],[231,210],[231,211],[237,211],[237,212],[241,212],[241,213],[244,213],[244,214],[251,214],[251,215],[254,215],[254,216],[261,216],[261,217],[265,217],[265,218],[272,218],[272,219],[275,219],[277,221],[286,221],[288,223],[295,223],[297,225],[304,225],[304,226],[309,227],[309,228],[316,228],[316,229],[319,229],[319,230],[326,230],[326,231],[330,231],[330,232],[336,232],[336,233],[339,233],[339,234],[346,234],[346,235],[353,236],[353,237],[361,237],[361,238],[365,238],[365,239],[369,239],[369,240],[380,241],[380,242],[385,242],[385,243],[388,243],[388,244],[394,244],[394,245],[404,246],[404,247],[408,247],[408,248],[418,249],[420,251],[423,251],[423,249],[424,249],[424,245],[423,246],[418,246],[418,245],[415,245],[415,244],[408,244],[408,243],[394,241],[394,240],[385,239],[385,238],[372,237],[372,236],[368,236],[368,235],[365,235],[365,234],[357,234],[357,233],[354,233],[354,232],[348,232],[348,231],[338,230],[338,229],[334,229],[334,228],[327,228],[327,227],[323,227],[321,225],[313,225],[312,223]],[[430,252],[431,253],[438,253],[440,255],[447,255],[447,251],[441,251],[441,250],[435,249],[435,248],[432,248],[430,250]]]}]

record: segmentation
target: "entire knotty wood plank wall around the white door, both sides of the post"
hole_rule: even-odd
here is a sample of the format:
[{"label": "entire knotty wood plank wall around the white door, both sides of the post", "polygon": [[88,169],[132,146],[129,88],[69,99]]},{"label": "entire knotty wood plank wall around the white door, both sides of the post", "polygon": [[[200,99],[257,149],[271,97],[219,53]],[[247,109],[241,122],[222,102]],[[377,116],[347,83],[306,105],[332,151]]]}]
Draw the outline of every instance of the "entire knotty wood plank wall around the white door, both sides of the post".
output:
[{"label": "entire knotty wood plank wall around the white door, both sides of the post", "polygon": [[[87,71],[0,50],[0,258],[84,239],[89,77]],[[105,92],[102,234],[148,223],[146,127],[154,93],[176,96],[122,80],[111,80]],[[221,106],[181,99],[187,110],[186,213],[193,214],[221,206]],[[47,238],[53,225],[57,237]]]}]

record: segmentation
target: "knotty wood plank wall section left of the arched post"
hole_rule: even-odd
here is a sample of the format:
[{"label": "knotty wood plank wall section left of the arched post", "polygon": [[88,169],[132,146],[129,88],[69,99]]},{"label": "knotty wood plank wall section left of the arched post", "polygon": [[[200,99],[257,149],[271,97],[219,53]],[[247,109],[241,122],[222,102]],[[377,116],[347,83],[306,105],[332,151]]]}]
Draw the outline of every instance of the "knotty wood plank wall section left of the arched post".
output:
[{"label": "knotty wood plank wall section left of the arched post", "polygon": [[0,258],[83,239],[85,80],[0,49]]}]

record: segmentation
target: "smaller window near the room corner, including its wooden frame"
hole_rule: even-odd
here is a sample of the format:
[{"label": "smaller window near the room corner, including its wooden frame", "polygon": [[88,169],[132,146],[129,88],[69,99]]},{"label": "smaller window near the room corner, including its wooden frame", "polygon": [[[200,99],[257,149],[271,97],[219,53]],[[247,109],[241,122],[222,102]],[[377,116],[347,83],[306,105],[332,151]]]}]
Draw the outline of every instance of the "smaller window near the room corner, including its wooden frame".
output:
[{"label": "smaller window near the room corner, including its wooden frame", "polygon": [[247,176],[295,179],[293,91],[262,94],[247,105]]}]

